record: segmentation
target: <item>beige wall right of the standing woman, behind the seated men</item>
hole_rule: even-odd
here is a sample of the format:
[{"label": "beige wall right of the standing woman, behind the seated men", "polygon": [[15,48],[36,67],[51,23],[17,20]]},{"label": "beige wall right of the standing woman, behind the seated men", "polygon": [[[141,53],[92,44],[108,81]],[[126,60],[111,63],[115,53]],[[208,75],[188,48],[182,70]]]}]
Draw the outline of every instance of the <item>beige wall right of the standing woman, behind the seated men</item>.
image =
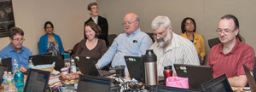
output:
[{"label": "beige wall right of the standing woman, behind the seated men", "polygon": [[[255,0],[96,0],[100,15],[108,20],[109,34],[124,31],[125,14],[135,13],[140,17],[143,32],[152,32],[151,22],[157,15],[166,15],[172,21],[172,31],[181,34],[181,22],[192,17],[196,33],[204,36],[207,55],[210,51],[207,40],[218,37],[215,32],[218,21],[224,14],[234,14],[240,22],[240,34],[246,43],[256,49],[256,1]],[[207,58],[206,58],[207,59]]]}]

